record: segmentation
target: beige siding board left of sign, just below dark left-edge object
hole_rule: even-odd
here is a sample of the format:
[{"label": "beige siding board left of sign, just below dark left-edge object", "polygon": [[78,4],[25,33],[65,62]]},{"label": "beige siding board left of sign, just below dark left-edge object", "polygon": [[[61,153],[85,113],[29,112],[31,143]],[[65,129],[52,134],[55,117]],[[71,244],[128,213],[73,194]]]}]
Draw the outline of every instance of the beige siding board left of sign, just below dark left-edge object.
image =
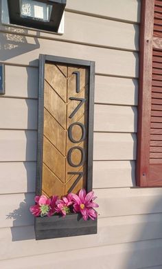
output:
[{"label": "beige siding board left of sign, just below dark left-edge object", "polygon": [[0,98],[0,129],[37,129],[38,102],[32,99]]}]

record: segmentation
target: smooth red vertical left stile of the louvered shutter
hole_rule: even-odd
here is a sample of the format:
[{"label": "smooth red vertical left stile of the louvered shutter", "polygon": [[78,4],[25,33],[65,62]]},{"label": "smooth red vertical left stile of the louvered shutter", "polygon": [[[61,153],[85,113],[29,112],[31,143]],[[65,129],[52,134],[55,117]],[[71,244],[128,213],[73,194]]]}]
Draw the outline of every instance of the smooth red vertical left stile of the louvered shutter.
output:
[{"label": "smooth red vertical left stile of the louvered shutter", "polygon": [[150,113],[152,91],[152,36],[154,0],[141,1],[139,43],[139,103],[137,133],[137,186],[148,186],[150,155]]}]

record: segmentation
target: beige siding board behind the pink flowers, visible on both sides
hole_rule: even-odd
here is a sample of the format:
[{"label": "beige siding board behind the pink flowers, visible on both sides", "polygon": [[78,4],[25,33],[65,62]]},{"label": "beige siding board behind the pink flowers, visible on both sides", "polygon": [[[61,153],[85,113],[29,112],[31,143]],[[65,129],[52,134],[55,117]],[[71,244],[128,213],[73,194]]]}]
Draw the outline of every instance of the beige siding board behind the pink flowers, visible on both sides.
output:
[{"label": "beige siding board behind the pink flowers, visible on both sides", "polygon": [[[161,213],[162,190],[133,188],[96,189],[99,218]],[[0,228],[33,225],[34,217],[28,213],[34,193],[1,195]],[[139,203],[140,207],[136,204]]]}]

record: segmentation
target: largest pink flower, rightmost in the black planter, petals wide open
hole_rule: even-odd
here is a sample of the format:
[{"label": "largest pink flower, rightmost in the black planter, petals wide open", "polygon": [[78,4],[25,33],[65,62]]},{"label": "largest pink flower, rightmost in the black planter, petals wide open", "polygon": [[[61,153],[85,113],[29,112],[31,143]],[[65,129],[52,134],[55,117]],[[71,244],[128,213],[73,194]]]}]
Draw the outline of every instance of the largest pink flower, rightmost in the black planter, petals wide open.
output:
[{"label": "largest pink flower, rightmost in the black planter, petals wide open", "polygon": [[98,208],[97,203],[94,203],[95,200],[94,192],[89,192],[86,195],[86,191],[80,190],[79,195],[75,195],[73,193],[70,194],[73,203],[73,211],[80,212],[84,221],[90,217],[91,219],[95,219],[97,217],[97,212],[93,208]]}]

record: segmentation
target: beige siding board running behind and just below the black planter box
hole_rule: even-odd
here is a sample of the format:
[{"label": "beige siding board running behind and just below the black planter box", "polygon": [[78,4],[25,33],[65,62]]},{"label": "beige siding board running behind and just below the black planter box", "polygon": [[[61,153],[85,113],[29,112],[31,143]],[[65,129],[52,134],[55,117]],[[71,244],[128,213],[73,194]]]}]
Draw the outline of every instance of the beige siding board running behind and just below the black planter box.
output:
[{"label": "beige siding board running behind and just below the black planter box", "polygon": [[[87,240],[85,240],[84,236],[79,238],[67,237],[63,245],[63,239],[47,240],[47,243],[45,241],[34,241],[34,226],[17,226],[13,227],[12,230],[10,228],[1,228],[0,239],[3,248],[0,249],[0,257],[1,259],[9,259],[19,256],[41,255],[48,252],[158,239],[162,235],[161,224],[162,215],[158,213],[103,218],[98,221],[97,235],[87,235]],[[148,225],[147,229],[143,229],[143,226],[146,227],[146,225]]]}]

